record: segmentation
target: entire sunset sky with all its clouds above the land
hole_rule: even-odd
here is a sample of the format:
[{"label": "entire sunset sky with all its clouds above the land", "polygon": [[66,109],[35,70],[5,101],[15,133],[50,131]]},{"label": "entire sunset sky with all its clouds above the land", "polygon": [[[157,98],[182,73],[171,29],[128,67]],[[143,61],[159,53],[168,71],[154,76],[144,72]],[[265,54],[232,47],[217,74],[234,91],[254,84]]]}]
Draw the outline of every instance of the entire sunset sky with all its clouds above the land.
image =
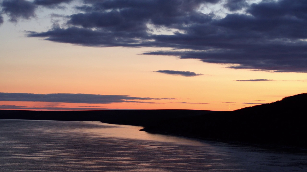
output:
[{"label": "entire sunset sky with all its clouds above the land", "polygon": [[307,89],[306,0],[0,0],[0,109],[236,110]]}]

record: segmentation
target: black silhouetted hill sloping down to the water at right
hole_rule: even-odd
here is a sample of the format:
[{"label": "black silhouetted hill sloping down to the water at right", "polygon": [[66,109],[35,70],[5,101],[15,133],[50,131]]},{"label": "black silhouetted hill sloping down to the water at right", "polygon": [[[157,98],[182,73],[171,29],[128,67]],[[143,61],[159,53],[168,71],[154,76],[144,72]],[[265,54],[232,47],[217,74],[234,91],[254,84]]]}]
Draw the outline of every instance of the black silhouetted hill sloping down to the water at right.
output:
[{"label": "black silhouetted hill sloping down to the water at right", "polygon": [[143,130],[221,141],[307,147],[306,104],[307,94],[303,93],[230,112],[166,120]]}]

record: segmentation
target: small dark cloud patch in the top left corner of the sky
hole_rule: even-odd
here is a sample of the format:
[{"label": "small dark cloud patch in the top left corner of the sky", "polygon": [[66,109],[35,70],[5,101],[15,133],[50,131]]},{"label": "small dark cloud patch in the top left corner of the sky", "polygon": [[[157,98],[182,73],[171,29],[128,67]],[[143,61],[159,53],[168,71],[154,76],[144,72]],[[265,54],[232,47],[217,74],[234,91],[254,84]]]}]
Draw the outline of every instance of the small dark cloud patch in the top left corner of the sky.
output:
[{"label": "small dark cloud patch in the top left corner of the sky", "polygon": [[19,19],[30,19],[35,17],[36,6],[25,0],[3,0],[1,2],[2,12],[10,17],[11,22]]}]

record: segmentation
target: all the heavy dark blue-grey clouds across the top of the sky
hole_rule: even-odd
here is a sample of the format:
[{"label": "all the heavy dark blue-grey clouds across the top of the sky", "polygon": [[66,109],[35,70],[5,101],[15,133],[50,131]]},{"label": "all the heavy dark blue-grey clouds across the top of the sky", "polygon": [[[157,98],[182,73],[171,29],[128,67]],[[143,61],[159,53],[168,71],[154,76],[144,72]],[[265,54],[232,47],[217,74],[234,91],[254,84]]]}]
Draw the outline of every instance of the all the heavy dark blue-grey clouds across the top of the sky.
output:
[{"label": "all the heavy dark blue-grey clouds across the top of the sky", "polygon": [[[4,0],[11,21],[35,16],[37,6],[73,0]],[[12,6],[13,2],[17,6]],[[231,69],[307,72],[306,0],[84,0],[60,27],[28,37],[93,47],[168,47],[144,54],[227,64]],[[226,11],[205,13],[216,4]],[[29,6],[25,11],[21,6]],[[227,12],[228,11],[228,12]],[[0,22],[1,23],[1,22]],[[155,32],[161,31],[160,34]],[[171,32],[166,34],[164,31]]]}]

